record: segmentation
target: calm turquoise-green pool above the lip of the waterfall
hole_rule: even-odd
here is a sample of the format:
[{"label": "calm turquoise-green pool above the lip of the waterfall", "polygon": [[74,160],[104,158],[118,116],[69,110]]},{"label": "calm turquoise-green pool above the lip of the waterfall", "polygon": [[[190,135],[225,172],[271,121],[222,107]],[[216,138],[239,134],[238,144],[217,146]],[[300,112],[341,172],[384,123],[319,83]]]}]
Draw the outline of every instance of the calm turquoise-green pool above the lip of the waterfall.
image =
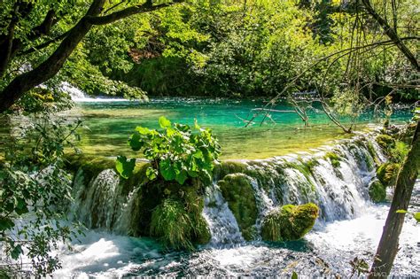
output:
[{"label": "calm turquoise-green pool above the lip of the waterfall", "polygon": [[[212,128],[222,144],[222,159],[265,159],[295,151],[308,151],[324,143],[348,137],[319,111],[309,113],[311,128],[304,128],[299,116],[291,112],[274,112],[272,119],[262,126],[261,117],[245,128],[243,119],[250,119],[252,109],[262,101],[158,98],[148,103],[136,101],[92,101],[78,103],[71,115],[83,120],[82,151],[87,155],[132,155],[127,145],[128,136],[136,126],[158,128],[158,119],[164,115],[173,122]],[[292,110],[290,105],[277,105],[277,110]],[[408,110],[395,112],[393,120],[408,120]],[[241,120],[242,119],[242,120]],[[346,121],[346,120],[345,120]],[[356,130],[365,131],[375,123],[369,113],[362,115]]]}]

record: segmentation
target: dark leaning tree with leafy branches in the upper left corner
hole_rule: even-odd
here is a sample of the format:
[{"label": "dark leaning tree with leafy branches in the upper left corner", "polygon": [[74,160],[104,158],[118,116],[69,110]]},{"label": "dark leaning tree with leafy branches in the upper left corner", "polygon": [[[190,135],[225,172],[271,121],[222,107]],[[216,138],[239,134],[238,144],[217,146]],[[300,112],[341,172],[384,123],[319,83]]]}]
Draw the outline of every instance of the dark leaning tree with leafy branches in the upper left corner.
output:
[{"label": "dark leaning tree with leafy branches in the upper left corner", "polygon": [[[4,4],[2,22],[2,33],[0,34],[0,76],[4,78],[7,70],[10,70],[14,59],[19,56],[37,50],[43,50],[53,43],[58,43],[58,47],[39,65],[23,74],[12,75],[12,80],[0,92],[0,112],[6,111],[28,90],[34,89],[44,81],[50,80],[65,64],[66,59],[82,42],[85,35],[94,26],[101,26],[113,23],[116,20],[127,18],[131,15],[144,12],[152,12],[168,5],[182,2],[175,0],[164,4],[153,4],[152,0],[147,0],[143,4],[129,4],[130,2],[120,2],[118,4],[105,4],[105,0],[92,0],[86,12],[79,14],[78,9],[85,10],[83,2],[79,1],[49,1],[27,2],[24,0],[11,1]],[[3,5],[3,4],[2,4]],[[119,11],[110,12],[120,8]],[[10,14],[4,15],[5,12]],[[39,25],[33,28],[28,26],[35,25],[39,21],[39,14],[44,14],[44,18]],[[51,40],[43,40],[43,37],[51,35],[54,26],[58,25],[61,19],[74,19],[78,21],[65,32],[56,35]],[[24,32],[20,31],[24,29]],[[35,45],[39,40],[43,41]],[[29,43],[28,43],[29,42]]]}]

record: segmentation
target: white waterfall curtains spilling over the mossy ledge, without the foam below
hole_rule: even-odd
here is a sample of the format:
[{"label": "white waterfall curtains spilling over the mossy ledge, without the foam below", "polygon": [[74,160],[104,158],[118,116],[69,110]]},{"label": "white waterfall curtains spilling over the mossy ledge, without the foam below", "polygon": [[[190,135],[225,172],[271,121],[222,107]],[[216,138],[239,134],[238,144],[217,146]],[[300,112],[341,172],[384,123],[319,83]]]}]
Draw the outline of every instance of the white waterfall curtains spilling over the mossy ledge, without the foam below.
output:
[{"label": "white waterfall curtains spilling over the mossy ledge, without the foam below", "polygon": [[[331,155],[332,154],[332,155]],[[279,205],[315,203],[323,222],[353,219],[369,206],[369,182],[375,177],[376,164],[385,155],[372,135],[355,136],[333,146],[323,146],[312,153],[301,152],[289,156],[261,160],[229,161],[237,168],[220,166],[222,174],[215,174],[214,183],[206,188],[203,217],[212,234],[210,245],[243,243],[244,236],[235,213],[223,197],[219,182],[229,175],[242,175],[253,190],[257,218],[253,225],[255,237],[260,239],[261,221]],[[88,182],[82,170],[74,176],[73,211],[89,228],[108,229],[129,234],[136,214],[139,187],[121,190],[121,179],[111,169],[105,169]],[[245,237],[246,238],[246,237]]]}]

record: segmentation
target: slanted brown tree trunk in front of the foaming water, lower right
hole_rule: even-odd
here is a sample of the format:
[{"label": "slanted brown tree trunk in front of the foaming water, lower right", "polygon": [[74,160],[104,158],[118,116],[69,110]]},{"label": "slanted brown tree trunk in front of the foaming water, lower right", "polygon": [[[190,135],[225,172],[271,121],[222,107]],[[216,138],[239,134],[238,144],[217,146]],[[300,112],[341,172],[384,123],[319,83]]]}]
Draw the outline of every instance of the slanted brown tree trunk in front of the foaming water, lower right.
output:
[{"label": "slanted brown tree trunk in front of the foaming water, lower right", "polygon": [[370,269],[369,278],[386,278],[393,260],[398,252],[398,240],[404,223],[405,213],[397,210],[407,210],[414,184],[420,169],[420,120],[417,121],[416,132],[413,136],[411,150],[398,174],[393,203],[389,209],[381,240],[377,246],[377,253]]}]

